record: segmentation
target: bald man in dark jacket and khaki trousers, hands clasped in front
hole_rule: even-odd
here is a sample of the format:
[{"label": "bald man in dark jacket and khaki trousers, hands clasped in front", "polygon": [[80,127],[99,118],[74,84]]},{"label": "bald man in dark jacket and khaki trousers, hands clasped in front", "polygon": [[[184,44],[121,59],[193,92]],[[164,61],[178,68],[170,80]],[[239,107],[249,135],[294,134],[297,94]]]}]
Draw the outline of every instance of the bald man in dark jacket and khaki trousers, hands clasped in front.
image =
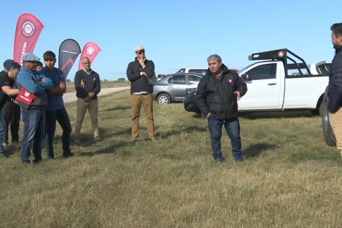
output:
[{"label": "bald man in dark jacket and khaki trousers, hands clasped in front", "polygon": [[88,109],[90,119],[92,120],[92,133],[94,136],[94,142],[99,138],[99,124],[97,121],[97,113],[99,106],[97,104],[97,95],[101,91],[101,82],[99,74],[90,68],[90,60],[88,57],[81,59],[83,69],[79,70],[75,74],[74,85],[76,89],[77,97],[77,117],[75,126],[75,143],[81,144],[79,138],[81,133],[81,126],[84,120],[84,115]]}]

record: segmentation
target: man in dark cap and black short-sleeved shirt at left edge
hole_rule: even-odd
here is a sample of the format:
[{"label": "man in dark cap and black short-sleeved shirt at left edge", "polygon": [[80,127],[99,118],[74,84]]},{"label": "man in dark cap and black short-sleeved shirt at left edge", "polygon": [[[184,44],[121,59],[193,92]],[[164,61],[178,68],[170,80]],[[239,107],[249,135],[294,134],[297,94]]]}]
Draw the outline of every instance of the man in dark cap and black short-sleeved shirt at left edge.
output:
[{"label": "man in dark cap and black short-sleeved shirt at left edge", "polygon": [[15,63],[13,60],[8,59],[3,63],[3,67],[5,67],[5,70],[0,72],[0,156],[6,156],[6,154],[4,154],[5,149],[2,145],[4,132],[4,123],[2,118],[3,104],[5,104],[6,100],[10,99],[10,97],[19,93],[19,90],[13,89],[12,87],[20,70],[20,65],[19,63]]}]

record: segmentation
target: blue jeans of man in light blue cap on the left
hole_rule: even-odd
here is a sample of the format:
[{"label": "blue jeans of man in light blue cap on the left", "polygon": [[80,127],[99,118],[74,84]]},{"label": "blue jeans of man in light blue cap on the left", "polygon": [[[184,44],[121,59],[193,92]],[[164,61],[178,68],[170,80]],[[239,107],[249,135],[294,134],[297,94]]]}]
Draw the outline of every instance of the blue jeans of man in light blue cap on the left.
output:
[{"label": "blue jeans of man in light blue cap on the left", "polygon": [[22,148],[20,155],[22,163],[30,163],[31,146],[33,148],[33,162],[42,161],[42,140],[45,133],[45,110],[22,108],[22,120],[24,122],[24,132],[22,138]]}]

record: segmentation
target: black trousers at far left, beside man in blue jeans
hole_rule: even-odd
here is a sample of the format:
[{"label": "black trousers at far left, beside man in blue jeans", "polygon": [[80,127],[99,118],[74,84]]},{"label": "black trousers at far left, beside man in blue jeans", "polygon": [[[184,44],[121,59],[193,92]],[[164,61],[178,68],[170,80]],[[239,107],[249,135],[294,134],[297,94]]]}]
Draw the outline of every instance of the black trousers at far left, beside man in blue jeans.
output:
[{"label": "black trousers at far left, beside man in blue jeans", "polygon": [[8,145],[8,126],[10,126],[12,142],[19,142],[20,106],[13,104],[13,102],[6,101],[2,108],[2,122],[2,142]]}]

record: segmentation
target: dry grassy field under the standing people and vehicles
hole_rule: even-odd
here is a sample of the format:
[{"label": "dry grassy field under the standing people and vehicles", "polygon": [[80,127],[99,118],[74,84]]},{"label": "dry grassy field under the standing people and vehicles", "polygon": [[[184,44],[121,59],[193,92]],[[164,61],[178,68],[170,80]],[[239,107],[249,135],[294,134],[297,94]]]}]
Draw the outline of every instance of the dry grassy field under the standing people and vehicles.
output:
[{"label": "dry grassy field under the standing people and vehicles", "polygon": [[[75,104],[66,106],[72,127]],[[206,120],[183,104],[154,105],[157,143],[130,143],[129,91],[99,99],[101,141],[88,113],[76,156],[0,160],[0,227],[341,227],[342,163],[307,113],[241,120],[244,163],[215,165]],[[72,136],[73,137],[73,136]],[[31,155],[32,156],[32,155]]]}]

